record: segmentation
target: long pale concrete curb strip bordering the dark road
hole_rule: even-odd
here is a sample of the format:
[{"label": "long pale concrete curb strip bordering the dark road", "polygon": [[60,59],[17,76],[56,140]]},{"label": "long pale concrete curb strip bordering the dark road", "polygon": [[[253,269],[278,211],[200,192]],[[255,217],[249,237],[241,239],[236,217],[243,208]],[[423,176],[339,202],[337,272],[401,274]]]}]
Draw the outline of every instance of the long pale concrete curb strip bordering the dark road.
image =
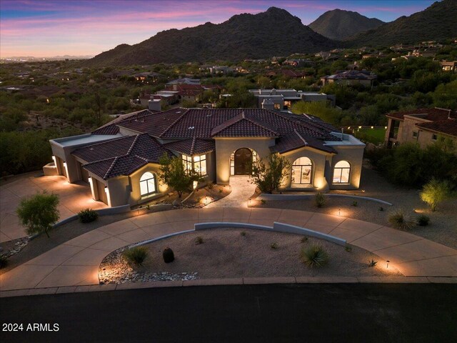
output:
[{"label": "long pale concrete curb strip bordering the dark road", "polygon": [[0,298],[29,295],[108,292],[126,289],[198,287],[252,284],[457,284],[457,277],[243,277],[233,279],[196,279],[185,281],[91,284],[85,286],[14,289],[0,291]]}]

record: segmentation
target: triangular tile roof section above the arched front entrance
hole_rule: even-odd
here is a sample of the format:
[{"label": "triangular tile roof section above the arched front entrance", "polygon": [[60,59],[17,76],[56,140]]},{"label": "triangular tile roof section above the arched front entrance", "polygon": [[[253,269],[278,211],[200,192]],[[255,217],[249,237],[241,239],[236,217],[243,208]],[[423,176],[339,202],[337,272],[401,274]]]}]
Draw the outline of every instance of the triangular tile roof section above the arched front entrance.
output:
[{"label": "triangular tile roof section above the arched front entrance", "polygon": [[211,130],[213,137],[275,137],[279,136],[278,132],[268,124],[262,123],[255,117],[246,115],[241,111],[237,116],[224,121],[221,125]]}]

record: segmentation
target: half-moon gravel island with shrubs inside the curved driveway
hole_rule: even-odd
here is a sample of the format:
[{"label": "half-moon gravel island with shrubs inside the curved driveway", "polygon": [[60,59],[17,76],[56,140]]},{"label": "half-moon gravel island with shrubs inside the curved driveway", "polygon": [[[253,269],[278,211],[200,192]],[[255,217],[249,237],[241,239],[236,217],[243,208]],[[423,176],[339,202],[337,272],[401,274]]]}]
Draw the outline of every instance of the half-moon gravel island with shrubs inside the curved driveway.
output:
[{"label": "half-moon gravel island with shrubs inside the curved driveway", "polygon": [[[203,243],[196,243],[197,237]],[[151,279],[200,279],[231,277],[302,276],[401,276],[397,269],[386,269],[380,257],[359,247],[350,251],[337,244],[303,236],[263,232],[253,229],[209,229],[170,237],[146,244],[148,257],[142,266],[131,266],[121,251],[111,253],[99,269],[101,283],[142,282]],[[275,244],[276,243],[276,244]],[[300,259],[302,247],[321,245],[330,257],[324,267],[307,267]],[[276,246],[276,249],[272,248]],[[170,247],[175,260],[166,264],[162,251]],[[368,267],[371,259],[379,261]],[[165,273],[165,274],[164,274]]]}]

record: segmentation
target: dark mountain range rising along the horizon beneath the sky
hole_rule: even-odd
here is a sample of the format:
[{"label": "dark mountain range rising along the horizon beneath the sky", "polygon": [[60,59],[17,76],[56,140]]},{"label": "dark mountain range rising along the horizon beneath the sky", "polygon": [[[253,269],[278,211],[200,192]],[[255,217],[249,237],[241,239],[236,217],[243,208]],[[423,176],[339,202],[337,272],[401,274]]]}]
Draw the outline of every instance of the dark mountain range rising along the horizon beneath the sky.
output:
[{"label": "dark mountain range rising along the horizon beneath the sky", "polygon": [[[356,12],[337,9],[326,12],[310,24],[319,34],[288,11],[271,7],[259,14],[232,16],[221,24],[207,22],[181,30],[161,31],[139,44],[121,44],[83,63],[86,66],[126,66],[240,61],[338,47],[417,43],[456,38],[456,18],[457,0],[438,1],[423,11],[385,24]],[[368,26],[377,27],[370,29]]]}]

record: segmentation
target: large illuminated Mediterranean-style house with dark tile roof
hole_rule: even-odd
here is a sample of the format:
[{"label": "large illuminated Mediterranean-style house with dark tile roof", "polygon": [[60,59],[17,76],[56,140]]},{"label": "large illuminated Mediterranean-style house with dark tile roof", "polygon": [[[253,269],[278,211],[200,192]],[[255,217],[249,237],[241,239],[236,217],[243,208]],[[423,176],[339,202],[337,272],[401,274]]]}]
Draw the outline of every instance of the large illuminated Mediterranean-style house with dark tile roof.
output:
[{"label": "large illuminated Mediterranean-style house with dark tile roof", "polygon": [[205,183],[229,184],[278,153],[292,164],[282,189],[358,189],[365,146],[314,116],[268,109],[146,109],[50,142],[54,173],[89,183],[92,197],[111,207],[171,192],[159,179],[163,154]]}]

